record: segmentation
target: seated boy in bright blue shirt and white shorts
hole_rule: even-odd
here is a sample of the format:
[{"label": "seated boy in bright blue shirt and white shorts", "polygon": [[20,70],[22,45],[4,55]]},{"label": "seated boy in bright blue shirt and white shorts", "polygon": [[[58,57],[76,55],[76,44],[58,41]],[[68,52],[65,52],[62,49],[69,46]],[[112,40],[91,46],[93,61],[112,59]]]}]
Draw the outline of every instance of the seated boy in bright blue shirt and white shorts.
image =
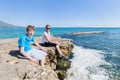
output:
[{"label": "seated boy in bright blue shirt and white shorts", "polygon": [[[34,26],[28,25],[26,28],[26,34],[18,40],[18,47],[20,49],[20,53],[27,57],[30,61],[34,63],[38,63],[41,61],[41,66],[44,66],[46,53],[45,49],[41,47],[33,37],[34,34]],[[36,46],[38,46],[41,50],[31,48],[30,43],[34,42]]]}]

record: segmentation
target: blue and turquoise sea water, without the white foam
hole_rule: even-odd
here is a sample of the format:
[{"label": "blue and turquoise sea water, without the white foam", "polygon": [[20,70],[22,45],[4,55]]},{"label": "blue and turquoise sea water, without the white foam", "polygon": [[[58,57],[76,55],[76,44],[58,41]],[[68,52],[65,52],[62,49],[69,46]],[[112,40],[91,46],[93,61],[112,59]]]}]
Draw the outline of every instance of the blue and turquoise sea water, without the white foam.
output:
[{"label": "blue and turquoise sea water, without the white foam", "polygon": [[[82,31],[105,31],[105,33],[79,35],[79,36],[73,36],[70,34],[71,32],[82,32]],[[36,28],[34,36],[41,36],[43,32],[44,32],[44,28]],[[0,28],[0,39],[17,38],[19,36],[24,35],[25,33],[26,33],[25,28]],[[77,47],[79,47],[77,48],[78,49],[77,51],[74,51],[74,54],[76,54],[77,52],[82,52],[83,48],[84,48],[84,52],[86,53],[91,52],[96,54],[97,52],[92,51],[93,49],[101,51],[100,55],[102,55],[103,57],[101,58],[96,56],[97,59],[94,58],[94,60],[97,61],[98,59],[101,59],[104,60],[106,63],[109,63],[110,65],[99,63],[98,67],[100,69],[104,69],[104,73],[101,73],[101,75],[109,77],[107,79],[102,77],[99,80],[102,79],[120,80],[120,28],[77,28],[77,27],[51,28],[51,34],[56,36],[61,36],[63,38],[73,39],[73,43]],[[90,49],[91,51],[89,51],[88,49]],[[91,58],[90,60],[92,60],[93,56],[92,57],[89,56],[92,55],[88,53],[86,57]],[[80,63],[80,65],[85,65],[85,64],[86,63],[84,64]],[[92,72],[92,73],[94,72],[93,70],[95,70],[89,67],[89,65],[87,65],[87,68],[85,69],[88,70],[88,72]],[[78,74],[78,76],[79,75],[80,74]],[[91,77],[93,75],[89,74],[89,76]],[[89,80],[93,80],[93,78]]]}]

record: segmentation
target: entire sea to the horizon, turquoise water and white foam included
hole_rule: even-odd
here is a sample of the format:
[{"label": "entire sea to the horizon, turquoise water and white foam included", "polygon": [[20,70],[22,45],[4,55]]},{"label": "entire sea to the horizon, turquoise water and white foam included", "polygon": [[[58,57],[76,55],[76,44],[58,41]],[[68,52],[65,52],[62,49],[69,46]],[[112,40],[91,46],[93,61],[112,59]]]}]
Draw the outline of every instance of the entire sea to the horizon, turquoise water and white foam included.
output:
[{"label": "entire sea to the horizon, turquoise water and white foam included", "polygon": [[[35,37],[45,31],[35,29]],[[71,35],[72,32],[104,31],[102,34]],[[18,38],[25,28],[0,28],[0,39]],[[73,58],[64,80],[120,80],[120,28],[53,27],[51,34],[73,40]]]}]

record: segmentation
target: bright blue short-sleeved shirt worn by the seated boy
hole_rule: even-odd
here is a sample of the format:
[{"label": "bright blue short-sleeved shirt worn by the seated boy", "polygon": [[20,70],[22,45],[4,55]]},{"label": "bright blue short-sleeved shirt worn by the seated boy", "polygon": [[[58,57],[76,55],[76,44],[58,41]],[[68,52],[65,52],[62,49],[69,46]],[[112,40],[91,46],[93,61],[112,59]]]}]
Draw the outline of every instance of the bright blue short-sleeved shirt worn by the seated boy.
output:
[{"label": "bright blue short-sleeved shirt worn by the seated boy", "polygon": [[30,43],[34,41],[34,37],[31,36],[30,38],[28,38],[27,34],[25,34],[24,36],[20,37],[18,40],[18,47],[24,47],[24,51],[27,52],[29,50],[31,50],[31,46]]}]

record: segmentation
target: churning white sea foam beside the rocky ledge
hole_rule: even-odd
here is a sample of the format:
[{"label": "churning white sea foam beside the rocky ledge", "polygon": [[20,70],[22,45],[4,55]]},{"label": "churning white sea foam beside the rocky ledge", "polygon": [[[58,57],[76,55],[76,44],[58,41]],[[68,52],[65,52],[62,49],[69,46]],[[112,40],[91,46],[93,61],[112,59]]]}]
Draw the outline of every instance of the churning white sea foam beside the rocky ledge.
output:
[{"label": "churning white sea foam beside the rocky ledge", "polygon": [[71,67],[67,71],[65,80],[108,80],[106,70],[99,67],[104,61],[103,52],[94,49],[85,49],[75,46],[74,58],[71,59]]}]

